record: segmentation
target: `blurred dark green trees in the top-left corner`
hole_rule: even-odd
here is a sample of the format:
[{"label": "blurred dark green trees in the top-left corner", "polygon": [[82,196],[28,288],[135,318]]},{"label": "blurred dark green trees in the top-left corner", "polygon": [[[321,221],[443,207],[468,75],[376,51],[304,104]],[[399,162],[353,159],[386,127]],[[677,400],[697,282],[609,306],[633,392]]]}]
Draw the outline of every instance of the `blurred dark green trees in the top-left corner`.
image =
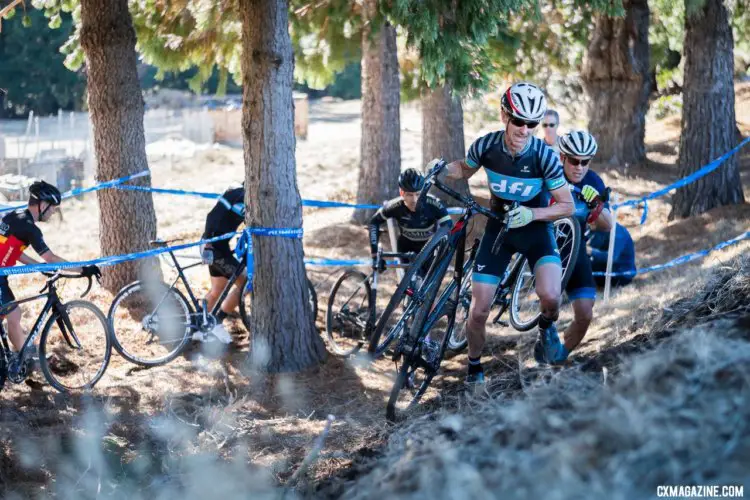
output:
[{"label": "blurred dark green trees in the top-left corner", "polygon": [[24,17],[28,23],[18,18],[3,22],[0,33],[0,86],[7,91],[0,116],[80,109],[85,81],[65,68],[64,57],[56,50],[73,32],[71,16],[61,13],[59,28],[54,30],[38,10],[28,9]]}]

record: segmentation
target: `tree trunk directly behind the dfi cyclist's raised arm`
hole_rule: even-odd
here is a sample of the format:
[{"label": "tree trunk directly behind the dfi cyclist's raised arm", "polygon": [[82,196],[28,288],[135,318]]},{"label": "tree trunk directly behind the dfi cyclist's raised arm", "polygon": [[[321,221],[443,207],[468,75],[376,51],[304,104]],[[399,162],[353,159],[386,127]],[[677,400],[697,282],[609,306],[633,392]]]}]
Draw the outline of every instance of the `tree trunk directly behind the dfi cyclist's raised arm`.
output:
[{"label": "tree trunk directly behind the dfi cyclist's raised arm", "polygon": [[[441,157],[448,162],[466,157],[461,98],[452,96],[447,85],[422,91],[422,166]],[[469,194],[466,179],[447,184],[461,194]],[[438,189],[433,194],[449,205],[458,203]]]}]

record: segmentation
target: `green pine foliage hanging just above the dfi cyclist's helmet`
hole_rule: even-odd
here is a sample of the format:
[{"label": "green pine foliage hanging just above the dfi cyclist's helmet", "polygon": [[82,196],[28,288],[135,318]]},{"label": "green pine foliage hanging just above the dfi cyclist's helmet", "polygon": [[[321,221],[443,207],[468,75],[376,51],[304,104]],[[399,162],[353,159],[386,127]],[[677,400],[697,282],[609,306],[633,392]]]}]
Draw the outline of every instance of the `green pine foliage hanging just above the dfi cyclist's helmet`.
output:
[{"label": "green pine foliage hanging just above the dfi cyclist's helmet", "polygon": [[545,80],[577,71],[594,12],[622,15],[620,0],[395,0],[386,14],[420,57],[406,94],[449,82],[460,93],[498,79]]}]

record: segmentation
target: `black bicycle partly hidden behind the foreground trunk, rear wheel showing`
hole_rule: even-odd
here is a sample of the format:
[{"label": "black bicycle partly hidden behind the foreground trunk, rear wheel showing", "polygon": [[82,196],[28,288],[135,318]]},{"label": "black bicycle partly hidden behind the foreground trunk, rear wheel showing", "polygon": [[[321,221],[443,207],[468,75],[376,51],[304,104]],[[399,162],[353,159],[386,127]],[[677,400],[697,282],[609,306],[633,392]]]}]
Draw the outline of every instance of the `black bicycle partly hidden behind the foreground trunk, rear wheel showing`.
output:
[{"label": "black bicycle partly hidden behind the foreground trunk, rear wheel showing", "polygon": [[[151,245],[167,248],[175,241],[155,240]],[[115,349],[131,363],[141,366],[168,363],[179,356],[194,337],[206,339],[217,324],[216,314],[222,302],[247,268],[247,255],[243,253],[240,265],[230,276],[216,304],[209,309],[205,299],[195,296],[185,277],[185,271],[205,266],[206,262],[201,260],[182,266],[174,251],[162,255],[169,255],[171,262],[167,262],[177,271],[172,283],[139,280],[126,285],[115,296],[107,315]],[[180,282],[187,297],[177,287]],[[313,284],[309,280],[307,284],[307,298],[316,317],[318,297]],[[240,299],[240,316],[248,331],[251,296],[252,292],[246,287]]]}]

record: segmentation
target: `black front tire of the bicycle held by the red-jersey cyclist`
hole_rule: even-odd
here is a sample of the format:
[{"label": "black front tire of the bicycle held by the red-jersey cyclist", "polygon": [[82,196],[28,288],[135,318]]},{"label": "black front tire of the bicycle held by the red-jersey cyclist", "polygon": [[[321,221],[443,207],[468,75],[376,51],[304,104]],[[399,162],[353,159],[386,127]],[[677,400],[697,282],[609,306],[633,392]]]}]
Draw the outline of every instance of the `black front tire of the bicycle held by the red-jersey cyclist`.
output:
[{"label": "black front tire of the bicycle held by the red-jersey cyclist", "polygon": [[[107,321],[107,317],[104,316],[104,313],[91,302],[87,302],[85,300],[73,300],[66,304],[63,304],[62,307],[65,308],[65,315],[67,316],[67,318],[63,318],[59,311],[54,311],[47,320],[47,324],[44,325],[42,336],[39,339],[39,367],[42,369],[42,373],[47,379],[47,382],[49,382],[52,387],[62,393],[69,393],[76,390],[88,391],[91,390],[97,382],[99,382],[99,380],[104,375],[104,372],[107,370],[107,367],[109,366],[109,360],[112,356],[112,335],[110,335],[109,323]],[[99,369],[96,371],[96,374],[87,383],[79,387],[67,387],[62,382],[60,382],[54,375],[53,370],[50,369],[50,360],[47,359],[47,341],[49,340],[49,333],[52,329],[52,326],[55,324],[65,324],[66,328],[70,328],[71,326],[73,326],[73,322],[70,320],[70,311],[73,308],[88,309],[94,314],[101,325],[101,333],[104,337],[105,344],[104,357],[102,359],[101,365],[99,366]],[[90,328],[91,326],[92,325],[90,322],[87,322],[87,324],[85,325],[86,328]],[[73,329],[75,330],[75,327],[73,327]],[[81,331],[82,330],[79,330],[79,333]],[[68,335],[71,335],[71,333],[68,333]],[[81,335],[77,335],[77,337],[80,339]]]}]

